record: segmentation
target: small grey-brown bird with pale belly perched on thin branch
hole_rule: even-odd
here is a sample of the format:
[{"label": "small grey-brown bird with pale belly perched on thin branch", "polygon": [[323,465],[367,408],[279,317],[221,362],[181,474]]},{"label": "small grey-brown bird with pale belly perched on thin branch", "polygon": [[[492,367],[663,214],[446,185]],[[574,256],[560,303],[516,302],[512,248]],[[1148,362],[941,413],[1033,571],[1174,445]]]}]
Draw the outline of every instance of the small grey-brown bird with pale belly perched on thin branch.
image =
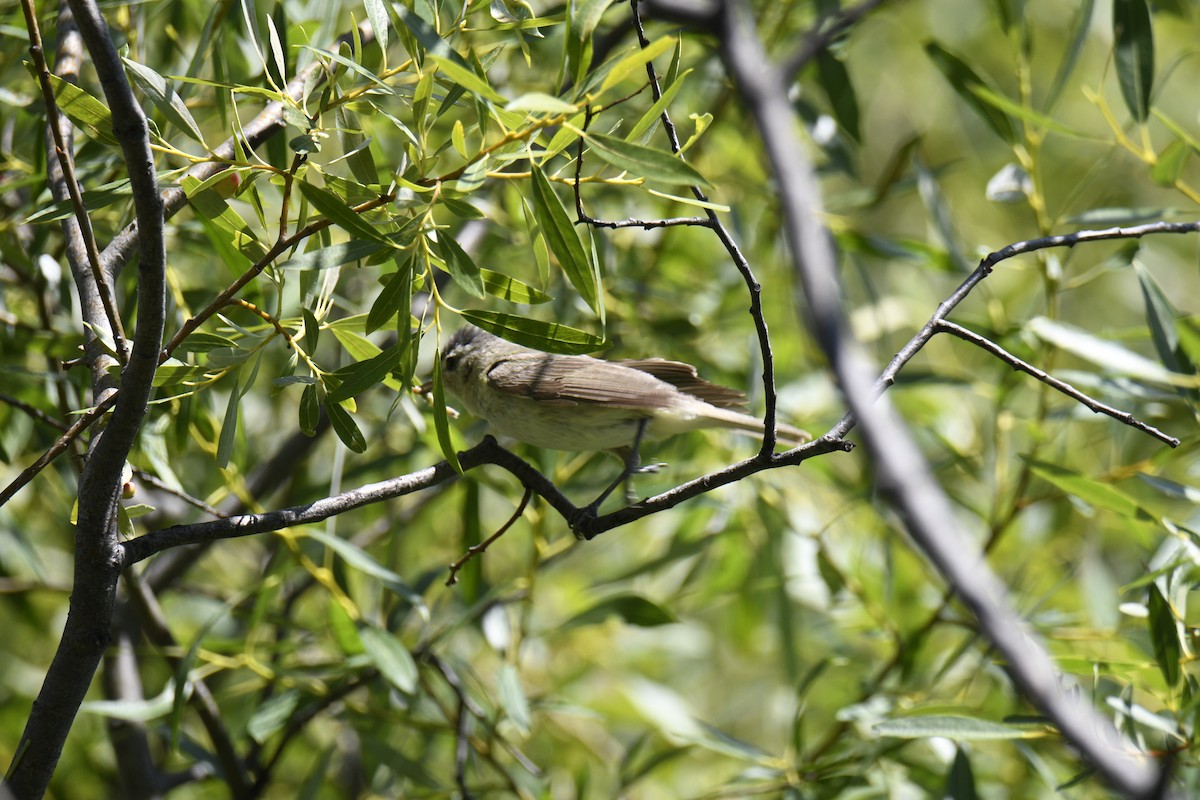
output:
[{"label": "small grey-brown bird with pale belly perched on thin branch", "polygon": [[[552,450],[618,451],[630,471],[643,440],[714,427],[763,432],[762,420],[733,410],[742,392],[703,380],[691,365],[551,355],[474,326],[450,338],[442,379],[502,435]],[[786,425],[776,434],[790,445],[812,438]]]}]

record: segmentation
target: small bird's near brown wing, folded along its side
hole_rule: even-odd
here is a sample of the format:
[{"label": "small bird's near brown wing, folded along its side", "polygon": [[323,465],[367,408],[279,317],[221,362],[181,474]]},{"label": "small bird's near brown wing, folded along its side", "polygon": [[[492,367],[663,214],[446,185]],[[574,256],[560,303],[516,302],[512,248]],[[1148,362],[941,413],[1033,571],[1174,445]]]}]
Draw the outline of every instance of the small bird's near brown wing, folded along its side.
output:
[{"label": "small bird's near brown wing, folded along its side", "polygon": [[558,405],[604,403],[654,410],[679,398],[671,383],[647,371],[588,356],[520,353],[497,361],[487,371],[487,381],[502,392]]}]

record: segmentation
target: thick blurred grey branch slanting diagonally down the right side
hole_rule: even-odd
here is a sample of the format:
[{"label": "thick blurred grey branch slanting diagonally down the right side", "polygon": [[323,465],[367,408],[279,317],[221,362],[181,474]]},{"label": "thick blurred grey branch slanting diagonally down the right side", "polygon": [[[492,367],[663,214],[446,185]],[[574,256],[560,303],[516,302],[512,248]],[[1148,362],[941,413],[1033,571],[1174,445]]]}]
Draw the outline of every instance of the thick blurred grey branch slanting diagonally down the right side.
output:
[{"label": "thick blurred grey branch slanting diagonally down the right side", "polygon": [[964,547],[949,500],[887,397],[875,399],[870,365],[842,315],[836,259],[820,224],[820,190],[796,134],[784,76],[767,62],[744,4],[726,0],[722,8],[722,55],[778,179],[784,231],[809,300],[811,325],[851,413],[860,421],[880,487],[916,542],[979,619],[1022,693],[1117,790],[1132,798],[1158,796],[1165,775],[1130,752],[1130,744],[1081,692],[1062,685],[1054,662],[1008,602],[1003,584],[982,554]]}]

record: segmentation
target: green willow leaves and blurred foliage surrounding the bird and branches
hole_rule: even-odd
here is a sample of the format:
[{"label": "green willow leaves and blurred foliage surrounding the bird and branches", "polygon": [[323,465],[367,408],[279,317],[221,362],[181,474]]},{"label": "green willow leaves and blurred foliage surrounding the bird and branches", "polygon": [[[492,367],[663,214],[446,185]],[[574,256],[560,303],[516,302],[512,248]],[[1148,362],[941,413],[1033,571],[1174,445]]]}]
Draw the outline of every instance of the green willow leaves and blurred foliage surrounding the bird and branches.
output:
[{"label": "green willow leaves and blurred foliage surrounding the bird and branches", "polygon": [[[712,37],[648,18],[642,47],[630,7],[607,0],[341,5],[106,7],[160,180],[188,198],[168,222],[169,357],[130,457],[127,536],[308,504],[474,444],[481,426],[412,391],[460,318],[547,350],[690,361],[757,391],[761,408],[746,285],[714,231],[577,213],[715,211],[764,287],[781,415],[815,432],[841,417],[794,311],[773,179]],[[758,4],[768,52],[790,55],[834,5]],[[1117,0],[1104,25],[1096,13],[884,4],[796,76],[847,309],[881,362],[988,252],[1192,213],[1198,67],[1182,42],[1195,13],[1142,0]],[[72,209],[46,190],[18,12],[0,32],[0,455],[16,475],[95,397],[58,224]],[[55,91],[103,246],[132,219],[113,120],[86,71]],[[269,102],[283,132],[188,175]],[[1146,752],[1175,756],[1184,788],[1200,775],[1194,248],[1150,236],[1039,249],[1000,263],[955,314],[1177,449],[950,337],[889,390],[964,542],[988,549],[1080,691]],[[115,285],[128,330],[137,279],[125,269]],[[754,447],[677,438],[636,489]],[[71,591],[83,450],[0,509],[5,763]],[[614,471],[602,455],[516,451],[581,503]],[[521,492],[474,469],[132,567],[54,796],[115,794],[130,778],[121,748],[142,745],[180,798],[223,794],[221,782],[278,798],[1104,795],[907,542],[857,451],[590,542],[535,499],[446,587],[446,565]]]}]

